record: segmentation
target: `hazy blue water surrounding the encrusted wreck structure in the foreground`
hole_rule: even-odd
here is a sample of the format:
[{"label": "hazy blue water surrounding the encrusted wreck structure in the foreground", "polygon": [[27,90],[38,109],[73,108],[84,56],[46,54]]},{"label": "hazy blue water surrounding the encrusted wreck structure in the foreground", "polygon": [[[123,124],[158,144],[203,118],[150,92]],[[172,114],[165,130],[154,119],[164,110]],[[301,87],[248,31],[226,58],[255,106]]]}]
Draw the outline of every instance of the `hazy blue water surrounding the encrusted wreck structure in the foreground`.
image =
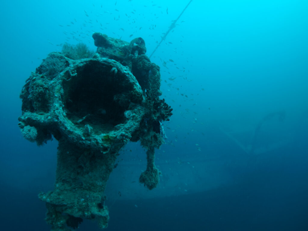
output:
[{"label": "hazy blue water surrounding the encrusted wreck structure in the foreground", "polygon": [[1,230],[51,230],[38,194],[55,187],[58,141],[22,136],[19,95],[65,43],[96,51],[95,32],[143,38],[173,108],[157,188],[138,182],[140,142],[121,149],[106,230],[308,230],[307,12],[304,0],[2,1]]}]

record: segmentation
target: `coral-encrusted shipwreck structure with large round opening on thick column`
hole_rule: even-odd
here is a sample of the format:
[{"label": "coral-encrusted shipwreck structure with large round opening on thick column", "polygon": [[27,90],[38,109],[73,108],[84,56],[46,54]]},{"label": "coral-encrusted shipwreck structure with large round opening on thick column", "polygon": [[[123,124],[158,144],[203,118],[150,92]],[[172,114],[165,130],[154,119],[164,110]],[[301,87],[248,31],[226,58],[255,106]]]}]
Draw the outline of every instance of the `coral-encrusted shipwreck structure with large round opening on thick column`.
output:
[{"label": "coral-encrusted shipwreck structure with large round opening on thick column", "polygon": [[97,53],[73,60],[52,52],[26,80],[20,95],[23,136],[38,145],[55,137],[56,181],[39,193],[53,231],[78,228],[83,219],[108,225],[104,189],[120,149],[140,140],[147,168],[139,182],[159,183],[155,148],[164,143],[162,122],[172,108],[159,99],[160,71],[145,55],[142,38],[130,43],[101,33],[92,35]]}]

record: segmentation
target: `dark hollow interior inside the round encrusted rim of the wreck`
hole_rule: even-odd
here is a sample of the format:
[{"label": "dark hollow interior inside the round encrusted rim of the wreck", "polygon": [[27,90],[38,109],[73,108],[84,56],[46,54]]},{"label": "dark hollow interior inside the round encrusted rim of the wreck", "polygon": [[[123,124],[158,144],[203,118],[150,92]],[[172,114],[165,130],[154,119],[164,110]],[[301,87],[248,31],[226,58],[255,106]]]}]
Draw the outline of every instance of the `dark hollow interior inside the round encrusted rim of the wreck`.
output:
[{"label": "dark hollow interior inside the round encrusted rim of the wreck", "polygon": [[124,111],[129,100],[120,101],[127,95],[124,74],[115,74],[111,66],[99,62],[79,68],[77,75],[64,84],[64,106],[67,117],[76,125],[89,124],[94,132],[106,133],[117,124],[125,122]]}]

